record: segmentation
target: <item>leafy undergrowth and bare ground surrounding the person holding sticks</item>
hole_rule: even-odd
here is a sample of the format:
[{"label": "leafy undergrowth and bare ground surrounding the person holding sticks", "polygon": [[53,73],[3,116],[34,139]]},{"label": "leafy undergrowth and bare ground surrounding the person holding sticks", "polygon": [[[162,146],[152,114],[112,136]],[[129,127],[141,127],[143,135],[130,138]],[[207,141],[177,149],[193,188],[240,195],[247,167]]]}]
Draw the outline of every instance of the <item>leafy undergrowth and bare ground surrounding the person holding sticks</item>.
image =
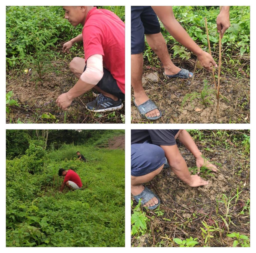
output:
[{"label": "leafy undergrowth and bare ground surrounding the person holding sticks", "polygon": [[[174,6],[177,21],[189,36],[209,52],[205,17],[207,18],[212,57],[218,64],[219,34],[217,6]],[[164,68],[146,43],[143,87],[162,112],[154,123],[250,123],[250,6],[232,6],[231,26],[222,39],[219,117],[216,116],[216,90],[212,72],[197,64],[194,81],[165,79]],[[181,46],[161,24],[161,32],[176,66],[193,72],[196,56]],[[218,69],[215,70],[217,84]],[[141,119],[132,102],[132,123],[150,123]]]}]

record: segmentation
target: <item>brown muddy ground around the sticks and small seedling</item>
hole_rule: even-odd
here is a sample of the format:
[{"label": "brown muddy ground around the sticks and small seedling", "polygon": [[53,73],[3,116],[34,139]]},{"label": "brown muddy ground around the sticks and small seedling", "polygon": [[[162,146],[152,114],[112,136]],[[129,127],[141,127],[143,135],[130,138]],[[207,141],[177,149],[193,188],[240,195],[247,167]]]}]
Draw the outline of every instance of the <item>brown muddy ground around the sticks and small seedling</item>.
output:
[{"label": "brown muddy ground around the sticks and small seedling", "polygon": [[[176,66],[191,72],[196,63],[192,59],[173,60],[173,62]],[[191,85],[191,79],[166,79],[163,68],[145,64],[142,79],[144,90],[162,112],[162,117],[153,123],[250,123],[250,77],[244,72],[248,64],[246,61],[242,68],[237,68],[237,72],[241,74],[239,78],[236,77],[235,71],[232,75],[227,74],[225,66],[222,66],[219,117],[216,116],[216,92],[210,95],[210,102],[207,105],[203,105],[198,97],[192,101],[188,99],[182,106],[182,101],[188,93],[201,92],[204,88],[204,80],[208,81],[209,89],[215,89],[210,71],[197,69]],[[217,69],[216,74],[218,74]],[[134,106],[133,94],[131,104],[132,123],[150,123],[150,120],[141,117]]]}]

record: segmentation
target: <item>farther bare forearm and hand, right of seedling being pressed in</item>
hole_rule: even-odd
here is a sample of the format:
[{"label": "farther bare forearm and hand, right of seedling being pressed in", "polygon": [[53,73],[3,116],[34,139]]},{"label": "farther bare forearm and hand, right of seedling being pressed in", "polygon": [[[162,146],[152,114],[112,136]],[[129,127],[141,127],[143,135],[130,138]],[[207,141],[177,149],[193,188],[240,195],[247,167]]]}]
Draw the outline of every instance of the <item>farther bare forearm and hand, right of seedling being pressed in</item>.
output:
[{"label": "farther bare forearm and hand, right of seedling being pressed in", "polygon": [[200,150],[198,149],[196,143],[190,136],[190,134],[183,130],[179,133],[179,141],[193,154],[196,158],[197,174],[200,173],[200,167],[205,166],[212,171],[217,171],[218,169],[213,164],[209,163],[203,156]]}]

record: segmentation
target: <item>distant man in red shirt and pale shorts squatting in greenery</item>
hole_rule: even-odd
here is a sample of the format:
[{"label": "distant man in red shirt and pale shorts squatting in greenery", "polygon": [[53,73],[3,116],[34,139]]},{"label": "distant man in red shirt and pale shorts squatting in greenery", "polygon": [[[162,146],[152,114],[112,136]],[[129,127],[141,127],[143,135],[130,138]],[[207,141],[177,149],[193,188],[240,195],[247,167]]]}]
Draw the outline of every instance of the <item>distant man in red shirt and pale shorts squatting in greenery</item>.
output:
[{"label": "distant man in red shirt and pale shorts squatting in greenery", "polygon": [[78,190],[81,189],[82,181],[78,174],[74,172],[72,169],[65,170],[65,169],[59,169],[59,176],[63,176],[64,181],[60,187],[60,191],[62,192],[65,186],[67,186],[70,190]]}]

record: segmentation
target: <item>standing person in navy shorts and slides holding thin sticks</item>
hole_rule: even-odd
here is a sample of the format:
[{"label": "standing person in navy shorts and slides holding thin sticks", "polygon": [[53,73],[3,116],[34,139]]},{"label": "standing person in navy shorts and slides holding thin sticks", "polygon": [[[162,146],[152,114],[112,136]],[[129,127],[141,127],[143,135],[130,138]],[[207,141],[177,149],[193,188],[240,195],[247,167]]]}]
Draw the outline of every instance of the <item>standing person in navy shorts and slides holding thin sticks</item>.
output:
[{"label": "standing person in navy shorts and slides holding thin sticks", "polygon": [[[193,76],[189,70],[173,64],[157,17],[174,39],[197,55],[204,68],[211,70],[213,66],[217,67],[211,55],[203,51],[175,19],[172,6],[131,6],[131,84],[134,90],[134,104],[141,116],[149,120],[159,119],[162,113],[148,98],[142,87],[145,36],[148,45],[161,60],[164,67],[163,75],[167,79],[191,78]],[[230,26],[229,6],[222,6],[216,22],[217,30],[223,37],[224,32]]]}]

